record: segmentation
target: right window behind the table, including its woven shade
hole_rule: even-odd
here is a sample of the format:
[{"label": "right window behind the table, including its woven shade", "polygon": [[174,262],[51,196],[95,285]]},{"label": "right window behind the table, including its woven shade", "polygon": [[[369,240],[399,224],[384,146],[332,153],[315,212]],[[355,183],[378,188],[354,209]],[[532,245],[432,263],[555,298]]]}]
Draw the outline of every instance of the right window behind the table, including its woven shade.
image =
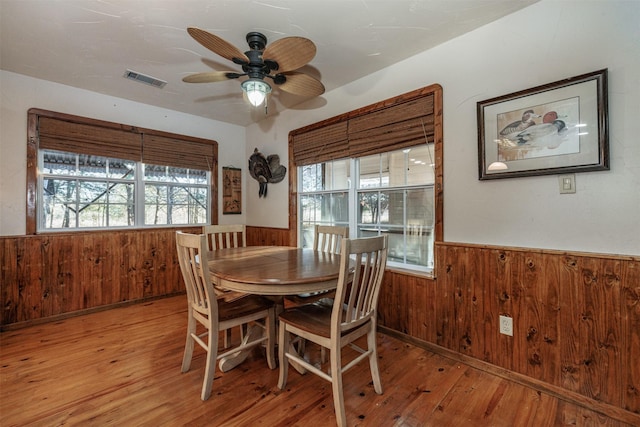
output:
[{"label": "right window behind the table, including its woven shade", "polygon": [[291,243],[314,224],[389,235],[390,267],[435,275],[443,239],[442,87],[377,102],[289,133]]}]

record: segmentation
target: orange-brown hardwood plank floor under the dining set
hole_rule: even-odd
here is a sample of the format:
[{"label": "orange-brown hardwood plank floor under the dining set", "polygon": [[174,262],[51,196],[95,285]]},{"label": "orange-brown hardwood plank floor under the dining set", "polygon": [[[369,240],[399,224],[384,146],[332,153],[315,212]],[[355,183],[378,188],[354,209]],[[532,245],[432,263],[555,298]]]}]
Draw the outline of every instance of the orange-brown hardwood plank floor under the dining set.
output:
[{"label": "orange-brown hardwood plank floor under the dining set", "polygon": [[[180,373],[185,330],[178,296],[1,333],[0,425],[334,425],[330,384],[290,371],[279,390],[262,349],[218,371],[202,402],[202,349]],[[367,363],[349,371],[350,425],[626,425],[388,335],[378,346],[384,394]]]}]

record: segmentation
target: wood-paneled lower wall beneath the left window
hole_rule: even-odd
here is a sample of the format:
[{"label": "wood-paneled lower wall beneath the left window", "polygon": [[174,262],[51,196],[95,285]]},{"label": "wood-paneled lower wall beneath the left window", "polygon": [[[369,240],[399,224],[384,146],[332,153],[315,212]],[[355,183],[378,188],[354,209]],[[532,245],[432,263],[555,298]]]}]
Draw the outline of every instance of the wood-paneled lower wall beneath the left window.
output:
[{"label": "wood-paneled lower wall beneath the left window", "polygon": [[1,237],[0,328],[184,292],[175,230]]}]

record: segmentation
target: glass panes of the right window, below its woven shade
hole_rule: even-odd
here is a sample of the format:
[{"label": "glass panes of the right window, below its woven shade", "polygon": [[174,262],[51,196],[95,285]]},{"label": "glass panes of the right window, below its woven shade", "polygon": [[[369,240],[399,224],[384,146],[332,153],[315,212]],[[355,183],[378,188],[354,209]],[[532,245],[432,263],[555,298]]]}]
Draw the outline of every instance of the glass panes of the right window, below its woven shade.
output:
[{"label": "glass panes of the right window, below its woven shade", "polygon": [[314,224],[349,225],[352,237],[388,234],[390,266],[432,270],[433,158],[423,144],[300,166],[301,246],[311,246]]}]

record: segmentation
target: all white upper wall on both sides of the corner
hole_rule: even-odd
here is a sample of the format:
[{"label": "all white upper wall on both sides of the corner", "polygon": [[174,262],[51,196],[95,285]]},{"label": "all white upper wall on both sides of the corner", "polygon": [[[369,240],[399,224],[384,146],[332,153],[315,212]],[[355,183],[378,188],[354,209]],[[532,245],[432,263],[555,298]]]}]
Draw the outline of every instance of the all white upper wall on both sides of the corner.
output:
[{"label": "all white upper wall on both sides of the corner", "polygon": [[[0,71],[0,235],[25,231],[27,110],[38,107],[219,142],[243,169],[243,215],[221,223],[288,227],[287,179],[258,198],[255,147],[288,166],[291,129],[438,83],[444,88],[445,240],[640,255],[640,2],[542,0],[520,12],[246,129]],[[609,69],[611,170],[479,181],[476,103]],[[320,102],[319,102],[320,101]],[[312,108],[316,103],[325,104]],[[239,142],[245,142],[244,144]],[[243,151],[244,150],[244,151]],[[295,171],[288,171],[291,173]],[[222,205],[219,200],[220,206]]]}]

